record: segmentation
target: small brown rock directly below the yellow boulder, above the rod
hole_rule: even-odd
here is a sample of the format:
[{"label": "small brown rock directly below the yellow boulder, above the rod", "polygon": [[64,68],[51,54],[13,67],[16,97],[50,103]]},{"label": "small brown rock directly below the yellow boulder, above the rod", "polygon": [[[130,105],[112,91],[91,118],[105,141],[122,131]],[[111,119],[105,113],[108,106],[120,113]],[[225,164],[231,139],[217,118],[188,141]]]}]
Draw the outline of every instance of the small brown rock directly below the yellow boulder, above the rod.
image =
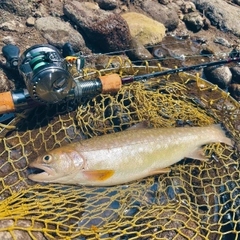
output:
[{"label": "small brown rock directly below the yellow boulder, above the rod", "polygon": [[149,60],[152,54],[137,39],[132,39],[130,43],[130,51],[127,52],[128,57],[133,60]]}]

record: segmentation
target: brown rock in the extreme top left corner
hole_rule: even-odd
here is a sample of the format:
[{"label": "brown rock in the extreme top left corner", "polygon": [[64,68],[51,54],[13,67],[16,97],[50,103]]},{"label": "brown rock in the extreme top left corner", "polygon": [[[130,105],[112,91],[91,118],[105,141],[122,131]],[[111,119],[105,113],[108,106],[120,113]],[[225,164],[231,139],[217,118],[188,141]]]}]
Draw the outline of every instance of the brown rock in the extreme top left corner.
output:
[{"label": "brown rock in the extreme top left corner", "polygon": [[19,16],[29,16],[31,14],[31,1],[28,0],[7,0],[0,1],[0,8]]}]

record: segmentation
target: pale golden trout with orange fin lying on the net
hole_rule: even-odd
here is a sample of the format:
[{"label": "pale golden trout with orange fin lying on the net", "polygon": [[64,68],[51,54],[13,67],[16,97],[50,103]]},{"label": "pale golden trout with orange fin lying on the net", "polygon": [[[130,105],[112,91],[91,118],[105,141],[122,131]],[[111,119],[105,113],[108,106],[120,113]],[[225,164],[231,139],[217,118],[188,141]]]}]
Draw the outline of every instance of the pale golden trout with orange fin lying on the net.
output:
[{"label": "pale golden trout with orange fin lying on the net", "polygon": [[233,146],[219,124],[204,127],[133,127],[70,143],[37,157],[28,176],[35,182],[86,186],[126,184],[168,173],[184,158],[207,161],[203,145]]}]

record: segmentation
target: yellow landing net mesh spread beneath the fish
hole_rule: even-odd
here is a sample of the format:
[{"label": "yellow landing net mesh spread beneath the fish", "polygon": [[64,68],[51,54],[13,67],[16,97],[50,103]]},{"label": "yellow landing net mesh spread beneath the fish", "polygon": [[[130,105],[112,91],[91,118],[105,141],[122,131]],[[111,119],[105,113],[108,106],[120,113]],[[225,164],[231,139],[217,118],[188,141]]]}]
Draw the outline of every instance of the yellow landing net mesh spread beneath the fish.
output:
[{"label": "yellow landing net mesh spread beneath the fish", "polygon": [[[80,80],[162,70],[122,65],[85,71]],[[229,95],[181,73],[123,86],[81,105],[69,102],[18,115],[0,126],[0,239],[239,239],[240,107]],[[208,163],[185,159],[171,172],[127,185],[36,184],[35,157],[72,141],[146,120],[153,127],[223,123],[236,142],[204,147]]]}]

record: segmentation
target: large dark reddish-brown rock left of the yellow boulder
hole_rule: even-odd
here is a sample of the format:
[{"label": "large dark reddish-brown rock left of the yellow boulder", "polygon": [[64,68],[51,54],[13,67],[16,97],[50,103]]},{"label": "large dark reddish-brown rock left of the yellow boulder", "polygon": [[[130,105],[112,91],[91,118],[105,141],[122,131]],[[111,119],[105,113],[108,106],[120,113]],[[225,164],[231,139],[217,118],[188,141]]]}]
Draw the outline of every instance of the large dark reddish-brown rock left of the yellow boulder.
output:
[{"label": "large dark reddish-brown rock left of the yellow boulder", "polygon": [[64,13],[83,30],[89,41],[102,51],[129,48],[129,27],[120,15],[104,11],[94,3],[77,1],[65,4]]}]

